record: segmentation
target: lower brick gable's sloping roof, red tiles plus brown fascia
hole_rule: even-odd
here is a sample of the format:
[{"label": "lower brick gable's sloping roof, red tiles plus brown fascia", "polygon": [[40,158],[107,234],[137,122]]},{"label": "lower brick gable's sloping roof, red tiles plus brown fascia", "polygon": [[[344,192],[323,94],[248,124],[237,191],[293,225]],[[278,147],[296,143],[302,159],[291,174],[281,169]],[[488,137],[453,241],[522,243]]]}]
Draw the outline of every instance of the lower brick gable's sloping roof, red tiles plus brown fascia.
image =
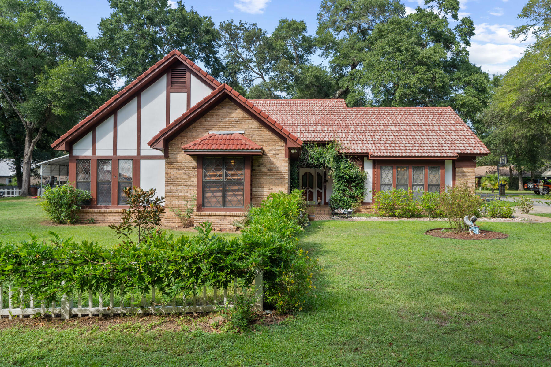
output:
[{"label": "lower brick gable's sloping roof, red tiles plus brown fascia", "polygon": [[239,92],[228,84],[222,84],[217,89],[213,90],[208,96],[204,97],[203,100],[197,102],[195,106],[188,109],[182,116],[175,119],[156,134],[147,144],[155,149],[164,149],[166,142],[170,140],[172,136],[180,133],[188,124],[195,122],[196,119],[203,116],[226,98],[236,103],[237,106],[240,106],[245,112],[248,112],[259,122],[271,128],[274,133],[280,135],[285,140],[287,146],[300,147],[302,145],[302,141],[296,135],[289,132],[289,130],[285,129],[281,124],[276,122],[276,120],[268,116],[268,114],[262,112],[260,108],[240,95]]}]

